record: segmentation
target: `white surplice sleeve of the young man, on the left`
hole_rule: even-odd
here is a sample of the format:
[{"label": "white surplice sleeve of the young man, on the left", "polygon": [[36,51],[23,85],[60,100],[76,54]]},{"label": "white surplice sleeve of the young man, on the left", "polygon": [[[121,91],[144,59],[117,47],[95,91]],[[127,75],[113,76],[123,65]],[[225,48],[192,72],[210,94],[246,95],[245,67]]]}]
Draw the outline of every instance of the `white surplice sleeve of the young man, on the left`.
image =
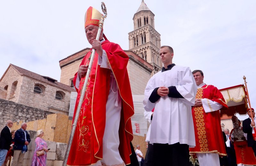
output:
[{"label": "white surplice sleeve of the young man, on the left", "polygon": [[152,103],[149,101],[150,95],[152,94],[153,90],[156,88],[156,85],[155,85],[156,74],[153,75],[153,77],[151,77],[149,79],[148,84],[145,89],[145,93],[144,93],[143,107],[148,112],[151,112],[152,109],[155,108],[155,105],[156,105],[156,102]]}]

